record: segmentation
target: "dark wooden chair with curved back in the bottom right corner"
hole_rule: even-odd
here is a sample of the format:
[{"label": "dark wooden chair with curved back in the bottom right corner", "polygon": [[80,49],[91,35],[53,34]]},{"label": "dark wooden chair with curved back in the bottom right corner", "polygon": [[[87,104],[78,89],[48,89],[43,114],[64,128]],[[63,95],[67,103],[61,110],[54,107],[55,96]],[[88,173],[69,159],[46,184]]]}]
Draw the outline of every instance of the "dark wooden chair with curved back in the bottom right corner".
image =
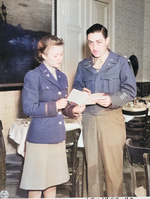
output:
[{"label": "dark wooden chair with curved back in the bottom right corner", "polygon": [[[132,139],[128,138],[126,140],[126,148],[127,148],[127,155],[128,155],[128,161],[129,161],[129,165],[130,165],[130,172],[131,172],[131,193],[132,196],[138,196],[141,197],[143,195],[137,195],[137,180],[136,180],[136,165],[139,165],[142,169],[142,171],[145,172],[145,176],[147,176],[147,171],[146,171],[146,167],[144,167],[145,163],[144,163],[144,159],[143,156],[145,153],[150,154],[150,149],[146,148],[146,147],[138,147],[138,146],[134,146]],[[141,171],[141,170],[140,170]],[[150,175],[150,174],[149,174]],[[148,180],[147,178],[145,178],[145,184],[148,184]],[[149,195],[149,188],[148,186],[146,186],[146,196],[150,196]],[[144,191],[144,188],[142,188]]]}]

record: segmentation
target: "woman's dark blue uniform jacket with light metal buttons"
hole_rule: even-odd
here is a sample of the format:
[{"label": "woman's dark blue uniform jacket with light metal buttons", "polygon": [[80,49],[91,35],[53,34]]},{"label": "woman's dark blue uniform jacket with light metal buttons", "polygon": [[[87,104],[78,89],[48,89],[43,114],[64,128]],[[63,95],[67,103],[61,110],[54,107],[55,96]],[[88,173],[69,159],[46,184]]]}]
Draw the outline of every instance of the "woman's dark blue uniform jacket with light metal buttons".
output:
[{"label": "woman's dark blue uniform jacket with light metal buttons", "polygon": [[[68,94],[66,75],[56,70],[57,81],[42,63],[29,71],[24,78],[22,90],[23,111],[32,117],[27,141],[31,143],[59,143],[65,140],[66,130],[61,111],[56,109],[56,101]],[[69,110],[69,109],[68,109]],[[72,117],[72,111],[64,114]]]}]

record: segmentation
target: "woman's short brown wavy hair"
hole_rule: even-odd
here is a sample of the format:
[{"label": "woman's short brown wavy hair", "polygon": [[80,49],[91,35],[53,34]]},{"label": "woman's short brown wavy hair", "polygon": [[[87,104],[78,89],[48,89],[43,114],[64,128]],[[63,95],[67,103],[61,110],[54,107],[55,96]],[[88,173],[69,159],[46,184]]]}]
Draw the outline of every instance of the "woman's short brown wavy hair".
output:
[{"label": "woman's short brown wavy hair", "polygon": [[37,51],[35,54],[35,59],[41,63],[43,62],[42,54],[44,54],[45,50],[50,46],[61,46],[63,45],[63,39],[59,39],[55,35],[48,34],[45,37],[43,37],[37,45]]}]

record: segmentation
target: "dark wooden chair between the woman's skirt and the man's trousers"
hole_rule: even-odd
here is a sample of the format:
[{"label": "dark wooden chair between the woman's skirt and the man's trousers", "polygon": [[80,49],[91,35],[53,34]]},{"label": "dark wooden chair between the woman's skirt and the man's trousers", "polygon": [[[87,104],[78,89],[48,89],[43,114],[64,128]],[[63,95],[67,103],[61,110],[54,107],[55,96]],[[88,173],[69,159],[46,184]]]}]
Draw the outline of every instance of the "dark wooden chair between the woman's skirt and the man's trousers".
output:
[{"label": "dark wooden chair between the woman's skirt and the man's trousers", "polygon": [[68,182],[57,186],[58,189],[68,189],[70,197],[79,197],[79,157],[77,157],[78,140],[81,129],[77,128],[66,132],[66,153],[70,179]]}]

